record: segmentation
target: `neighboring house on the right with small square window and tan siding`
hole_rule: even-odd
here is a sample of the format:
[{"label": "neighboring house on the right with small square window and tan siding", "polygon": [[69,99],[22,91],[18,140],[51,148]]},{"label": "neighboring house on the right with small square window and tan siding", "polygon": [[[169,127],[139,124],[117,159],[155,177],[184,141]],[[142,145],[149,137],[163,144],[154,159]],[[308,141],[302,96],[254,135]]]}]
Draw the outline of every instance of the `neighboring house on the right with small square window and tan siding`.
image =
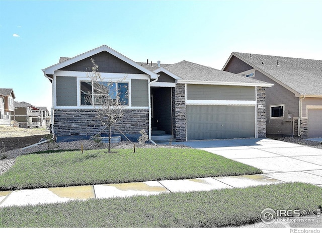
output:
[{"label": "neighboring house on the right with small square window and tan siding", "polygon": [[322,137],[322,61],[232,52],[222,70],[274,84],[266,91],[268,134]]}]

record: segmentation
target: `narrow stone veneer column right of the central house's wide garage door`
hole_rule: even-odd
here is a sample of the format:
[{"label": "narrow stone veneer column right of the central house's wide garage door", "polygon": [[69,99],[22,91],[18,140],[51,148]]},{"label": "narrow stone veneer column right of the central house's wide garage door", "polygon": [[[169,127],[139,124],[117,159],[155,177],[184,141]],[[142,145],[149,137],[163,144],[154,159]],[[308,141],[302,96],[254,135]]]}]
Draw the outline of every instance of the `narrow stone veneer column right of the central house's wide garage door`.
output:
[{"label": "narrow stone veneer column right of the central house's wide garage door", "polygon": [[257,106],[264,105],[264,108],[257,107],[257,136],[266,137],[266,94],[265,87],[257,87]]}]

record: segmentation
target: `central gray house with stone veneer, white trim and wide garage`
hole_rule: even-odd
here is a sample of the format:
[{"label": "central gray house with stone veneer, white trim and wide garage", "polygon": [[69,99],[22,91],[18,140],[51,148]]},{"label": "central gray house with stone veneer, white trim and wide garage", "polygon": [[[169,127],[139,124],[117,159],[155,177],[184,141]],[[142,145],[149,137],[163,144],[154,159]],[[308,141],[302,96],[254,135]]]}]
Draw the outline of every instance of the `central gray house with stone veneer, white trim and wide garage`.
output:
[{"label": "central gray house with stone veneer, white trim and wide garage", "polygon": [[[91,58],[104,80],[128,88],[116,126],[134,141],[141,129],[151,140],[152,129],[177,141],[266,136],[265,90],[271,84],[188,61],[134,62],[103,45],[43,69],[52,84],[57,141],[107,133],[96,118],[97,106],[84,100]],[[112,133],[120,134],[117,129]]]}]

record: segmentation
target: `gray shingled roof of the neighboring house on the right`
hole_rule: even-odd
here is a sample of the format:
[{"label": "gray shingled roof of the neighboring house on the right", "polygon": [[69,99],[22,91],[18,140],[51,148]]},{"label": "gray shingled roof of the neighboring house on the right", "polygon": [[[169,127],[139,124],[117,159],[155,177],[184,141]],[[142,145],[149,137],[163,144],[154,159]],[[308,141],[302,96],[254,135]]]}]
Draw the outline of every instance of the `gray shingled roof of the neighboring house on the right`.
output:
[{"label": "gray shingled roof of the neighboring house on the right", "polygon": [[296,96],[322,96],[322,61],[233,52],[231,55],[268,74]]}]

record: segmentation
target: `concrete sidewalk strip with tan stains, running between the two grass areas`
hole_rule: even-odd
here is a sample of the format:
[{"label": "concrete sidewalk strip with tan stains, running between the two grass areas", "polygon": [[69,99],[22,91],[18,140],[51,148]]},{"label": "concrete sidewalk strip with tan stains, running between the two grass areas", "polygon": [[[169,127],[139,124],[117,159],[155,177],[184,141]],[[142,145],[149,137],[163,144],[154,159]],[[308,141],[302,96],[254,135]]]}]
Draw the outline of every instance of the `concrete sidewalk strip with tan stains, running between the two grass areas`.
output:
[{"label": "concrete sidewalk strip with tan stains, running between the two grass areas", "polygon": [[282,181],[265,175],[246,175],[0,191],[0,207],[48,204],[93,198],[157,195],[171,192],[210,191],[213,189],[243,188],[277,183],[282,183]]}]

